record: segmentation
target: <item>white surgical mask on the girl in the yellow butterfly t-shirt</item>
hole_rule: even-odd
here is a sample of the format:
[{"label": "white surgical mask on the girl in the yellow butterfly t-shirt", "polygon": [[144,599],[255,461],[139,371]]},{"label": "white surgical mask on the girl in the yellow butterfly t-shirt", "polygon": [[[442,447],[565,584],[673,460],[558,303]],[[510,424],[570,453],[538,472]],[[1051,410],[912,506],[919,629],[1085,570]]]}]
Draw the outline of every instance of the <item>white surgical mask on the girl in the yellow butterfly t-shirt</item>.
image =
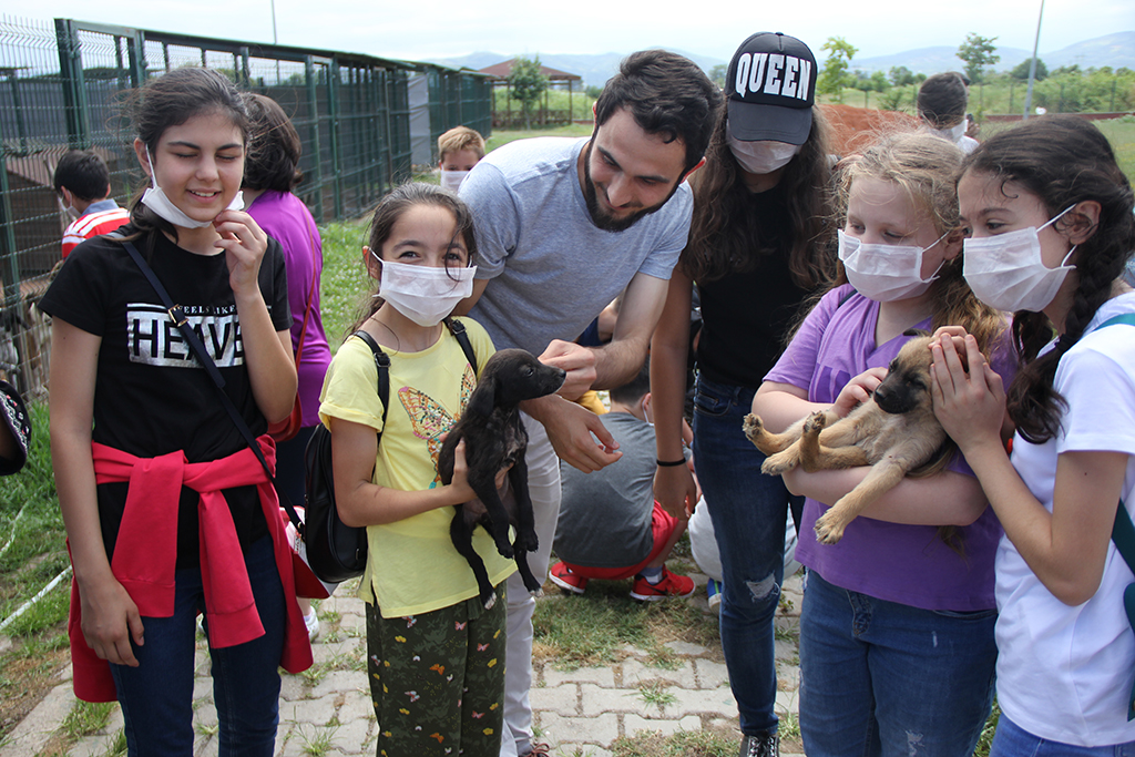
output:
[{"label": "white surgical mask on the girl in the yellow butterfly t-shirt", "polygon": [[453,312],[457,303],[473,293],[476,266],[468,268],[435,268],[411,266],[382,260],[371,251],[382,264],[378,294],[400,313],[429,328]]}]

